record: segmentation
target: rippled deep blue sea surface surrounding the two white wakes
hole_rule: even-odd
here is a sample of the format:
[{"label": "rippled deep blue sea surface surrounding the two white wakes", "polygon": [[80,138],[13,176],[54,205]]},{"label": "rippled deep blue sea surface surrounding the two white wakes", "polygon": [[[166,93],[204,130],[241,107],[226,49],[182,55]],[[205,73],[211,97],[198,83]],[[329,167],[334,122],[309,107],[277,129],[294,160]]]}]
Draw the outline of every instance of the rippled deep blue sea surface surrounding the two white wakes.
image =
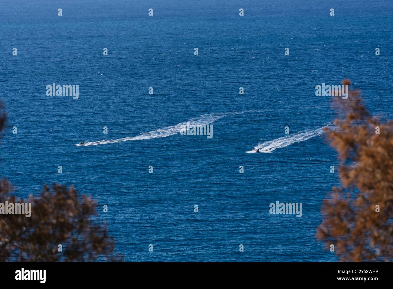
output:
[{"label": "rippled deep blue sea surface surrounding the two white wakes", "polygon": [[[315,133],[334,112],[315,86],[350,78],[392,118],[392,15],[366,0],[1,0],[0,176],[18,197],[57,182],[97,199],[125,261],[336,261],[315,238],[339,184]],[[79,98],[46,96],[52,83]],[[190,119],[212,121],[213,138],[172,134]],[[302,217],[269,214],[276,201],[302,203]]]}]

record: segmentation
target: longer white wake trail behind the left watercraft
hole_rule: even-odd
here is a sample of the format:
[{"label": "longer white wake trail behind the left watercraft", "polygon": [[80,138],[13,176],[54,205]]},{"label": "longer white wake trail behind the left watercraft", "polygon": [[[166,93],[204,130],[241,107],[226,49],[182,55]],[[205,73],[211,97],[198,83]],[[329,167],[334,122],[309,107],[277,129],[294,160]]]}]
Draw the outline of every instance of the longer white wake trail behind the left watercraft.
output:
[{"label": "longer white wake trail behind the left watercraft", "polygon": [[[242,114],[244,112],[251,112],[255,110],[245,110],[245,111],[232,111],[232,112],[225,112],[225,113],[211,113],[211,114],[204,114],[197,118],[191,118],[187,121],[182,123],[178,123],[176,125],[171,125],[169,127],[164,127],[162,129],[156,129],[155,131],[151,131],[149,133],[142,133],[138,136],[132,136],[127,138],[118,138],[116,140],[99,140],[97,142],[86,142],[83,146],[88,145],[99,145],[99,144],[114,144],[117,142],[125,142],[129,140],[149,140],[151,138],[165,138],[167,136],[173,136],[174,134],[180,133],[180,129],[182,125],[187,125],[187,122],[193,125],[207,125],[210,123],[223,118],[224,116],[231,115],[231,114]],[[80,144],[76,144],[78,146],[82,146]]]}]

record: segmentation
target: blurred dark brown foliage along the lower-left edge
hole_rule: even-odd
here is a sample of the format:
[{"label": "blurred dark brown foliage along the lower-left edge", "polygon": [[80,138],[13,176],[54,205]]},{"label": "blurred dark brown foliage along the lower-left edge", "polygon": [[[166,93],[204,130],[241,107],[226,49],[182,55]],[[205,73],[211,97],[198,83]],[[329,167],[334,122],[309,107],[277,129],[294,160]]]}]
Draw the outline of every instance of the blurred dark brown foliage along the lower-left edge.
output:
[{"label": "blurred dark brown foliage along the lower-left edge", "polygon": [[[0,133],[6,114],[0,103]],[[106,226],[91,221],[96,204],[71,186],[44,186],[40,195],[16,200],[12,186],[0,181],[0,203],[31,203],[31,217],[0,214],[0,261],[116,261]],[[62,252],[58,251],[62,245]]]}]

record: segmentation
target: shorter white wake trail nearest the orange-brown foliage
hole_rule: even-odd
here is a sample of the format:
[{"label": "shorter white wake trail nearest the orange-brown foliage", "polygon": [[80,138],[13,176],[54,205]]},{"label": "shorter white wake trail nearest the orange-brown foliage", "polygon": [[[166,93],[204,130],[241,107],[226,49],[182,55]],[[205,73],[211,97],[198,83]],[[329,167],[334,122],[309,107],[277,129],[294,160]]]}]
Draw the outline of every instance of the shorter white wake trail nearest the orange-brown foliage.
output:
[{"label": "shorter white wake trail nearest the orange-brown foliage", "polygon": [[[330,123],[326,125],[325,127],[329,127]],[[251,151],[246,151],[246,153],[256,153],[257,149],[261,153],[272,153],[275,149],[279,149],[281,147],[286,147],[290,144],[294,144],[296,142],[303,142],[304,140],[309,140],[310,138],[313,138],[314,136],[319,136],[323,134],[323,128],[321,127],[319,129],[315,130],[307,130],[307,131],[302,131],[300,133],[292,134],[290,136],[284,136],[282,138],[277,138],[275,140],[270,140],[268,142],[264,142],[263,144],[258,144],[256,147],[254,147],[253,150]]]}]

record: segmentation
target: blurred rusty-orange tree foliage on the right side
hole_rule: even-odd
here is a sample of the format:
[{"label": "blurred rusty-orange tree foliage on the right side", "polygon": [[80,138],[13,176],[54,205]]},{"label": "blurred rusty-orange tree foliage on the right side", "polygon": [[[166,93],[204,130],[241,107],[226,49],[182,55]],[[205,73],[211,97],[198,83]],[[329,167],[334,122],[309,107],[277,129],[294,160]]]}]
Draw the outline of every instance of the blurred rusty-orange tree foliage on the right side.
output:
[{"label": "blurred rusty-orange tree foliage on the right side", "polygon": [[317,237],[341,261],[392,261],[393,122],[372,117],[358,90],[334,97],[334,107],[343,116],[325,131],[341,161],[341,186],[324,201]]}]

